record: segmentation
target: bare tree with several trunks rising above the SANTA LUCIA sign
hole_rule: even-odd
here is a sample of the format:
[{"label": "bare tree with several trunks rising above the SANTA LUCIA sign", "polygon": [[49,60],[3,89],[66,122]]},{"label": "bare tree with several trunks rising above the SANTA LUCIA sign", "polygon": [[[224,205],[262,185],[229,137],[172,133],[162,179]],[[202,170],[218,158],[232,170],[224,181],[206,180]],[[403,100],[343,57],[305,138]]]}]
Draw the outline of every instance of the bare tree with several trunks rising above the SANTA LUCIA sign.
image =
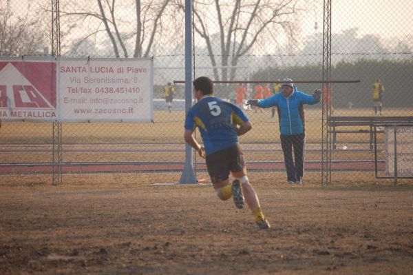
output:
[{"label": "bare tree with several trunks rising above the SANTA LUCIA sign", "polygon": [[[72,30],[67,37],[94,37],[96,43],[101,43],[105,39],[99,35],[105,33],[116,57],[147,57],[155,38],[162,33],[162,15],[171,0],[96,0],[86,6],[77,2],[67,4],[61,12],[61,17],[67,18],[65,26]],[[72,23],[67,23],[70,20]],[[84,23],[88,30],[83,28]],[[76,43],[81,44],[79,38]]]}]

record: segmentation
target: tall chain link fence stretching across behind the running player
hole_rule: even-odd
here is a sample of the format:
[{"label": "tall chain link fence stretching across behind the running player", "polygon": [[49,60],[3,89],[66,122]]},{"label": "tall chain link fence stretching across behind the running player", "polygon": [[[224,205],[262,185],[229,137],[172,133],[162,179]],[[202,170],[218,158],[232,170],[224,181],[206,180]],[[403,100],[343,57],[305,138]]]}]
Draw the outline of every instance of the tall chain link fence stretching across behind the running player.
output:
[{"label": "tall chain link fence stretching across behind the running player", "polygon": [[[56,55],[50,1],[0,3],[1,58]],[[184,1],[54,3],[59,3],[61,57],[153,57],[154,62],[153,123],[62,123],[63,173],[181,173],[184,85],[174,81],[184,80]],[[304,105],[304,183],[321,182],[322,105],[330,118],[326,150],[332,183],[393,181],[399,149],[390,149],[392,129],[403,125],[410,131],[413,123],[411,4],[332,3],[331,79],[342,81],[328,89],[311,83],[323,78],[323,1],[193,1],[192,74],[227,81],[215,84],[215,94],[240,105],[253,123],[240,138],[248,170],[275,182],[288,180],[277,110],[244,103],[260,98],[259,90],[263,96],[280,92],[271,81],[290,78],[306,94],[323,90],[323,102]],[[359,82],[345,83],[354,80]],[[170,103],[168,83],[174,90]],[[0,173],[52,172],[53,123],[13,121],[4,108]],[[413,146],[405,132],[396,140],[403,141],[401,152],[411,159]],[[197,177],[207,179],[203,160],[194,158]],[[400,165],[401,178],[409,178],[409,162]]]}]

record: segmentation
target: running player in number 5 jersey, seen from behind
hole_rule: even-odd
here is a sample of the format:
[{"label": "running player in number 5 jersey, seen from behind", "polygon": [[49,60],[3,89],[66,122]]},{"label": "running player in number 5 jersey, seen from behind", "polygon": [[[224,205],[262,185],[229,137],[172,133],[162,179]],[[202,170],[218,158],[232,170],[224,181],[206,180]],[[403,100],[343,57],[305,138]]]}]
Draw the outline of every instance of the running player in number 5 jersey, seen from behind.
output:
[{"label": "running player in number 5 jersey, seen from behind", "polygon": [[[189,109],[185,119],[184,139],[206,159],[208,174],[218,197],[223,201],[233,196],[235,206],[242,209],[245,201],[262,229],[270,228],[264,217],[257,194],[246,176],[244,154],[238,136],[251,130],[251,122],[237,106],[214,96],[213,82],[208,77],[193,81],[197,103]],[[204,145],[193,136],[198,127]],[[229,183],[229,174],[235,180]]]}]

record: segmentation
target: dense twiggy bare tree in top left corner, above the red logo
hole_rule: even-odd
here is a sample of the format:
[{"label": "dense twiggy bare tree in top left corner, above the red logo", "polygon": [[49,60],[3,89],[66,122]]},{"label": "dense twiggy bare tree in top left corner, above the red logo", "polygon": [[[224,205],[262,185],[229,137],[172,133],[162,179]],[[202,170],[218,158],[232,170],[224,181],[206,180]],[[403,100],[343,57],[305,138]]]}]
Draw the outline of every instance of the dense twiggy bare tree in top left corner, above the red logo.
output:
[{"label": "dense twiggy bare tree in top left corner, above the red logo", "polygon": [[[0,3],[0,54],[6,56],[47,54],[47,32],[41,26],[42,17],[34,12],[32,3],[12,7],[10,0]],[[25,7],[25,8],[24,8]],[[14,12],[14,10],[19,10]],[[36,17],[32,14],[37,14]]]}]

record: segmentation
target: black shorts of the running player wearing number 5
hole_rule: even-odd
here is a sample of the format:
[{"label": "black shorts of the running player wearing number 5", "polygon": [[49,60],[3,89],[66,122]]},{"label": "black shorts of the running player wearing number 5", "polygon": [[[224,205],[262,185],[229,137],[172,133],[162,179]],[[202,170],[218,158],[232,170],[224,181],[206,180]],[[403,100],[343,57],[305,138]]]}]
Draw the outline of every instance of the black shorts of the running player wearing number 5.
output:
[{"label": "black shorts of the running player wearing number 5", "polygon": [[244,153],[240,145],[209,154],[206,158],[208,174],[216,183],[229,178],[229,173],[242,171],[245,167]]}]

